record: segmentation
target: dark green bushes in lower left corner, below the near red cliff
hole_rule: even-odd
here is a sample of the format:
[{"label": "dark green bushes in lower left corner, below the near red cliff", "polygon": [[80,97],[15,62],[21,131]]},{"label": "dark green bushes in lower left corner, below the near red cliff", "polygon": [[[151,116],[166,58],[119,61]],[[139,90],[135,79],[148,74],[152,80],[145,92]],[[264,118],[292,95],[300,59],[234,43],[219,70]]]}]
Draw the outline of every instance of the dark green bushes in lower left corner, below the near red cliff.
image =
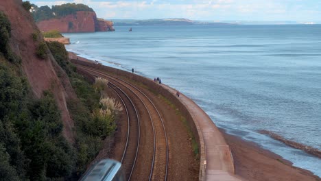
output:
[{"label": "dark green bushes in lower left corner, below the near red cliff", "polygon": [[[11,68],[9,68],[11,67]],[[62,136],[52,93],[31,96],[19,67],[0,57],[0,173],[5,180],[48,180],[71,176],[74,149]]]}]

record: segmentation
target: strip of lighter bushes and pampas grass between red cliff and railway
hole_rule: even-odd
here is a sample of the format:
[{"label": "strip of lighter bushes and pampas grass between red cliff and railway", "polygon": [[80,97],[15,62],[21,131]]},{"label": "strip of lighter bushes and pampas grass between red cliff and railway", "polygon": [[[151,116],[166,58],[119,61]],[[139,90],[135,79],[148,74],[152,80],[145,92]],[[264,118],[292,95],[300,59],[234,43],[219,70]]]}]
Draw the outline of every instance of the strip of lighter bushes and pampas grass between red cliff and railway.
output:
[{"label": "strip of lighter bushes and pampas grass between red cliff and railway", "polygon": [[[104,90],[101,82],[90,84],[77,73],[77,69],[68,61],[68,52],[62,43],[47,43],[56,62],[69,76],[71,86],[75,90],[78,99],[69,99],[67,106],[73,121],[75,121],[76,143],[78,152],[76,171],[82,173],[88,162],[97,156],[102,147],[102,139],[111,136],[116,129],[116,114],[119,106],[104,104],[100,99]],[[103,81],[106,82],[106,81]],[[110,102],[110,101],[108,101]]]}]

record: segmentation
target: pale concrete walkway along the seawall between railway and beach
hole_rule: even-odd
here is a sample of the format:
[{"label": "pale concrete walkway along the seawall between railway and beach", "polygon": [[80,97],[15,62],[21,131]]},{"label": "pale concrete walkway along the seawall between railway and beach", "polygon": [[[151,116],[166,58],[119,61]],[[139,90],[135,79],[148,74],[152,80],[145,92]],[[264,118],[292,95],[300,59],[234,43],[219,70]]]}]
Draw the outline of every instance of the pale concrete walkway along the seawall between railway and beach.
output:
[{"label": "pale concrete walkway along the seawall between railway and beach", "polygon": [[[176,95],[176,90],[173,88],[164,84],[162,86]],[[178,99],[191,113],[200,136],[200,167],[204,168],[200,180],[241,180],[235,176],[230,148],[209,115],[182,93]]]}]

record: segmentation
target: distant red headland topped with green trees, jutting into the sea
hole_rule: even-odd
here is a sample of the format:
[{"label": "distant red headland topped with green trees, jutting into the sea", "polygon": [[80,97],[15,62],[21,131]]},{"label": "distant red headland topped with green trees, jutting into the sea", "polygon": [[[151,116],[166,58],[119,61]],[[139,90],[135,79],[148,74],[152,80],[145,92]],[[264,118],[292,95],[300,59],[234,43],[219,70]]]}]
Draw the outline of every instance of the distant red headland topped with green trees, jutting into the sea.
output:
[{"label": "distant red headland topped with green trees, jutting into the sea", "polygon": [[84,4],[66,3],[52,8],[32,5],[30,11],[43,32],[53,29],[62,33],[115,31],[112,21],[98,19],[95,11]]}]

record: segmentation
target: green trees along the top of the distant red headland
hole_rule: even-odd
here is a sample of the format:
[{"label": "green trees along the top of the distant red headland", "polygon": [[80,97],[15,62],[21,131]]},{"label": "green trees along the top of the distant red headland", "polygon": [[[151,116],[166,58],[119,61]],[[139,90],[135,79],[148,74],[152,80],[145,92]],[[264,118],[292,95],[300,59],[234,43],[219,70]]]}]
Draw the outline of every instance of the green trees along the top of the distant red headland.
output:
[{"label": "green trees along the top of the distant red headland", "polygon": [[62,16],[67,16],[69,14],[75,14],[78,11],[87,11],[93,12],[92,8],[89,8],[84,4],[76,4],[76,3],[66,3],[62,5],[53,5],[52,8],[49,6],[41,6],[38,8],[36,5],[33,5],[35,11],[32,12],[32,16],[34,16],[34,21],[43,21],[47,19],[59,18]]}]

